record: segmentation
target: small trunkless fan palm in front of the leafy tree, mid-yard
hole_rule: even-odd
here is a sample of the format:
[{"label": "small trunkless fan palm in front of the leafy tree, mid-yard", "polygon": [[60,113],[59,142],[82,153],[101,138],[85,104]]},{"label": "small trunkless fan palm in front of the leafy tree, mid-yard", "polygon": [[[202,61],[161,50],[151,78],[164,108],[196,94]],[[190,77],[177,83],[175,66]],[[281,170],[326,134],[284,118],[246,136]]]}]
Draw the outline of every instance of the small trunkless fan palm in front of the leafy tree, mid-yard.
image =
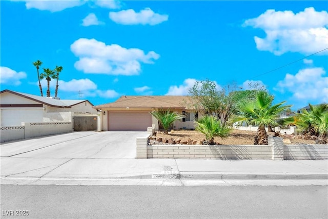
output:
[{"label": "small trunkless fan palm in front of the leafy tree, mid-yard", "polygon": [[229,136],[232,128],[221,124],[221,120],[217,116],[205,115],[195,121],[196,130],[206,136],[206,140],[210,145],[214,144],[214,137],[219,136],[222,139]]}]

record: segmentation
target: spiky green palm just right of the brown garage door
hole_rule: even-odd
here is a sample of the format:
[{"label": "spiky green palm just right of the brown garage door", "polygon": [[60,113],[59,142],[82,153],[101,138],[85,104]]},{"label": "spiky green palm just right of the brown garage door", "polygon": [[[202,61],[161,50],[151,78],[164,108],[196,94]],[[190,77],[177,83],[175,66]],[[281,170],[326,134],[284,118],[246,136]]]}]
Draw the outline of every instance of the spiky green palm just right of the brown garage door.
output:
[{"label": "spiky green palm just right of the brown garage door", "polygon": [[185,117],[185,115],[170,111],[170,108],[166,111],[161,108],[160,111],[152,111],[149,113],[157,118],[158,122],[162,124],[164,128],[164,134],[169,134],[168,129],[175,121]]}]

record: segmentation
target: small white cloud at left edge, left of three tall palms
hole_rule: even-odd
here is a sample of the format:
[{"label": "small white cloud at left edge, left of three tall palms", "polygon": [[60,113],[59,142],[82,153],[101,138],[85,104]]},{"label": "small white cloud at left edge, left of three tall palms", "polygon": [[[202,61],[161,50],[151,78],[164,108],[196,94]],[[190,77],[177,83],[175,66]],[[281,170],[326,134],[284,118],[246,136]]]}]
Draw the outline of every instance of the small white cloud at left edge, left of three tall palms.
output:
[{"label": "small white cloud at left edge, left of three tall palms", "polygon": [[23,71],[15,71],[8,67],[0,66],[0,84],[10,84],[18,86],[22,84],[20,79],[26,78],[26,73]]}]

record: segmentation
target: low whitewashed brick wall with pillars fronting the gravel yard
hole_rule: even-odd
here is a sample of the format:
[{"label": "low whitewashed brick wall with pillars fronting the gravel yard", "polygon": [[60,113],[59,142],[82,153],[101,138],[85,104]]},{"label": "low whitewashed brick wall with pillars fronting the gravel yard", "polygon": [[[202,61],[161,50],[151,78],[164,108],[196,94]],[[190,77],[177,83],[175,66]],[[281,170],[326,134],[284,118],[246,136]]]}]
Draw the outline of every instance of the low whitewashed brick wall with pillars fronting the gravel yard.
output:
[{"label": "low whitewashed brick wall with pillars fronting the gravel yard", "polygon": [[328,145],[283,145],[280,137],[269,137],[269,145],[148,145],[144,137],[137,138],[137,158],[322,160],[328,159]]}]

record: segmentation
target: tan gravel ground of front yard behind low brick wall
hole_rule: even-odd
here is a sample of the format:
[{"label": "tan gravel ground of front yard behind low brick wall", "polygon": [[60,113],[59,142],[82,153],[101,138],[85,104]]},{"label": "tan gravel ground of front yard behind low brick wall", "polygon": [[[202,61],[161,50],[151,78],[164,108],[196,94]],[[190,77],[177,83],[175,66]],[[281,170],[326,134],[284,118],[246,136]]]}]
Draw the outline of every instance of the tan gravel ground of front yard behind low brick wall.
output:
[{"label": "tan gravel ground of front yard behind low brick wall", "polygon": [[[233,130],[231,132],[231,135],[222,140],[220,137],[215,137],[214,142],[219,145],[253,145],[254,144],[254,137],[256,135],[256,131],[244,131],[244,130]],[[268,132],[269,136],[273,136],[274,132]],[[154,137],[154,136],[153,136]],[[163,134],[163,132],[157,132],[156,137],[161,138],[174,138],[175,141],[178,139],[181,140],[181,142],[187,142],[188,140],[193,140],[194,142],[201,142],[204,140],[205,135],[195,131],[195,130],[176,130],[171,131],[169,134]],[[284,144],[315,144],[314,140],[304,140],[301,138],[301,136],[294,136],[294,135],[281,135],[280,137],[283,137],[284,139],[289,139]],[[299,138],[298,138],[299,137]],[[165,144],[162,142],[157,142],[156,140],[150,140],[151,145],[155,144]]]}]

